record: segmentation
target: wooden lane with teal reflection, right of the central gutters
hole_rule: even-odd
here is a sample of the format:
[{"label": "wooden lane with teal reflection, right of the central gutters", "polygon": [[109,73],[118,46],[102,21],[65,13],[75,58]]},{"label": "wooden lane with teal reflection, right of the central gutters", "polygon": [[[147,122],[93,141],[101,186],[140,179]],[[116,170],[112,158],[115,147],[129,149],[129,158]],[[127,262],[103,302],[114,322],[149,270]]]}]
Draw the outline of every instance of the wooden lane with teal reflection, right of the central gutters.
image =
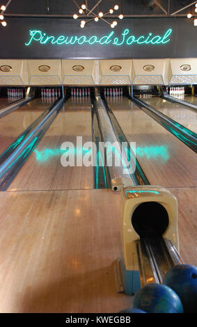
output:
[{"label": "wooden lane with teal reflection, right of the central gutters", "polygon": [[196,154],[129,99],[108,101],[150,184],[195,186]]}]

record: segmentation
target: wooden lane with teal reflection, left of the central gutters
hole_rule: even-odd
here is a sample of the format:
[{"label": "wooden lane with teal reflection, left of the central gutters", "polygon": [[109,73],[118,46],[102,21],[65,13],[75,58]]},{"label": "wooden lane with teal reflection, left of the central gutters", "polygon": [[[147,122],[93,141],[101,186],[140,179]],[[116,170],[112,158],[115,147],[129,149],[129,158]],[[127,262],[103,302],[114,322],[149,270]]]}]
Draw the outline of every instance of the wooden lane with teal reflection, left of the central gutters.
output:
[{"label": "wooden lane with teal reflection, left of the central gutters", "polygon": [[61,150],[62,143],[73,143],[69,156],[72,160],[82,150],[76,148],[77,136],[82,136],[83,144],[92,141],[90,99],[75,100],[69,99],[63,106],[8,190],[93,189],[92,166],[76,166],[76,160],[74,166],[61,165],[61,156],[65,153]]}]

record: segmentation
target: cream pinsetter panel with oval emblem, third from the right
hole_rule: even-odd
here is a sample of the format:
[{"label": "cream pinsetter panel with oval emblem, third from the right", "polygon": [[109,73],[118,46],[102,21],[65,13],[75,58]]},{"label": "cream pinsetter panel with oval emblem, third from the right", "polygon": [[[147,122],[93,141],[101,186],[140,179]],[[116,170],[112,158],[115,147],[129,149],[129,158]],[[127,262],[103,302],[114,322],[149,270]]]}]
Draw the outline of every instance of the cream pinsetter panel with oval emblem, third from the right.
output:
[{"label": "cream pinsetter panel with oval emblem, third from the right", "polygon": [[101,60],[101,85],[129,85],[132,83],[132,60]]}]

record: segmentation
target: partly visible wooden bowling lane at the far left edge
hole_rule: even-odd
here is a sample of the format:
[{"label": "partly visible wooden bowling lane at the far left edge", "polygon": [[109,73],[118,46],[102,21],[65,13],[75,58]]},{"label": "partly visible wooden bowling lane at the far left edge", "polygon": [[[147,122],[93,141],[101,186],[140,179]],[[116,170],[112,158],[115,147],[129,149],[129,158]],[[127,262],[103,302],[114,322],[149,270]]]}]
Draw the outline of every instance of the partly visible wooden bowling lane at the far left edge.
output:
[{"label": "partly visible wooden bowling lane at the far left edge", "polygon": [[34,99],[19,109],[9,113],[0,119],[0,154],[9,147],[15,139],[31,123],[38,118],[42,112],[49,107],[49,103],[41,99]]}]

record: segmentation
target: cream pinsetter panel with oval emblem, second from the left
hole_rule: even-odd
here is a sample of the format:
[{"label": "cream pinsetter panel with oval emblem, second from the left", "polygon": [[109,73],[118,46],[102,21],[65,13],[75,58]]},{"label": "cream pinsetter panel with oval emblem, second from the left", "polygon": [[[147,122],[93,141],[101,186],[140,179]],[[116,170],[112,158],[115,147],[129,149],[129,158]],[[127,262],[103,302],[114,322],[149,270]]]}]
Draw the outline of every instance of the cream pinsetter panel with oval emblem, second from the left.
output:
[{"label": "cream pinsetter panel with oval emblem, second from the left", "polygon": [[28,60],[29,85],[61,85],[61,60]]}]

